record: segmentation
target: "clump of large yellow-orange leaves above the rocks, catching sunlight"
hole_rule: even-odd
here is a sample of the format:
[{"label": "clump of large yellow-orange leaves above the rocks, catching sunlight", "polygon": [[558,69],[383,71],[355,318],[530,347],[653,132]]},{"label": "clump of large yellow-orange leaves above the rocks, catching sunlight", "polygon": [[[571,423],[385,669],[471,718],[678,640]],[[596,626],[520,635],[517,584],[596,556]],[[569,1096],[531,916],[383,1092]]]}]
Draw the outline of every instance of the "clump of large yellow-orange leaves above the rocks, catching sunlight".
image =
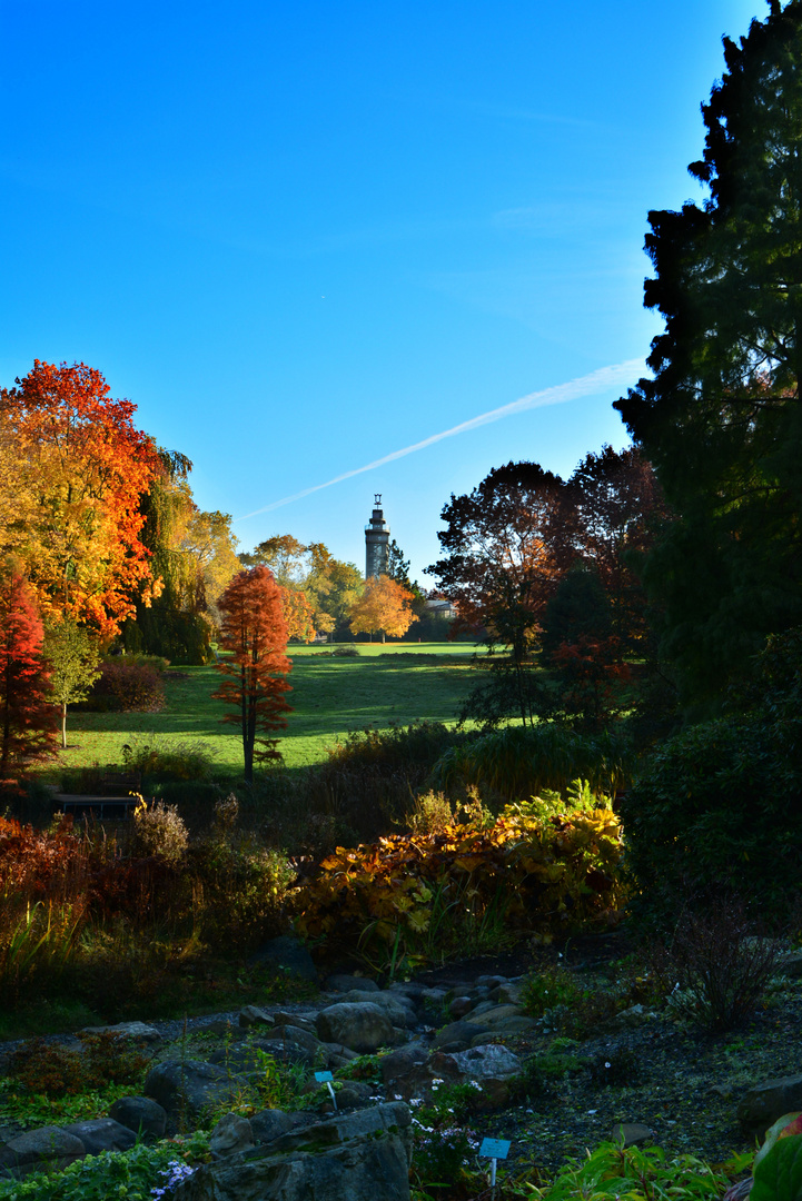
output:
[{"label": "clump of large yellow-orange leaves above the rocks, catching sunlight", "polygon": [[509,807],[489,825],[337,850],[297,895],[297,928],[390,972],[401,960],[497,951],[515,933],[550,937],[609,916],[623,897],[620,859],[608,809],[544,819]]}]

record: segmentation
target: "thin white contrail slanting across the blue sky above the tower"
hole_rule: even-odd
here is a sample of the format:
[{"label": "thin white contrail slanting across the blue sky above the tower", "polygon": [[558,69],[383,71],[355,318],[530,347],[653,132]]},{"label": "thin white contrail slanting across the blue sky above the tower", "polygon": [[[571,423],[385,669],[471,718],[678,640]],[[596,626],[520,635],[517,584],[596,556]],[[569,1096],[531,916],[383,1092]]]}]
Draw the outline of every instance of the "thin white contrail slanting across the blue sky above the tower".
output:
[{"label": "thin white contrail slanting across the blue sky above the tower", "polygon": [[626,363],[599,368],[598,371],[592,371],[587,376],[580,376],[579,380],[570,380],[568,383],[559,383],[553,388],[544,388],[541,392],[531,392],[528,396],[513,400],[509,405],[502,405],[501,408],[491,408],[489,413],[472,417],[468,422],[453,425],[450,430],[443,430],[442,434],[432,434],[430,437],[424,438],[423,442],[413,442],[412,446],[403,447],[402,450],[394,450],[391,454],[385,454],[383,459],[375,459],[373,462],[367,462],[364,467],[343,471],[341,476],[327,479],[324,484],[313,484],[312,488],[305,488],[301,492],[293,492],[292,496],[285,496],[281,501],[274,501],[273,504],[265,504],[264,508],[255,509],[253,513],[246,513],[235,520],[247,521],[249,518],[256,518],[262,513],[280,509],[282,504],[292,504],[293,501],[300,501],[304,496],[311,496],[312,492],[319,492],[323,488],[341,484],[343,479],[361,476],[363,472],[373,471],[375,467],[383,467],[385,462],[403,459],[405,455],[414,454],[415,450],[425,450],[426,447],[433,446],[435,442],[442,442],[443,438],[453,438],[456,434],[467,434],[468,430],[475,430],[480,425],[490,425],[491,422],[499,422],[502,417],[522,413],[527,408],[541,408],[544,405],[564,405],[568,400],[579,400],[580,396],[589,396],[594,392],[604,392],[606,388],[620,387],[630,381],[633,375],[642,371],[644,368],[644,359],[627,359]]}]

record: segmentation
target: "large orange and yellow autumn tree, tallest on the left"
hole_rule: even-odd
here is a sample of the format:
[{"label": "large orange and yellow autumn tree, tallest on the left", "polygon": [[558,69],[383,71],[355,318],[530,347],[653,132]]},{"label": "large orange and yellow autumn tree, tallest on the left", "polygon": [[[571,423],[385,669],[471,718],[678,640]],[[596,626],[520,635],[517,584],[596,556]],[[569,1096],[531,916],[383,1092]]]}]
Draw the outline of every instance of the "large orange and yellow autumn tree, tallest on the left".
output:
[{"label": "large orange and yellow autumn tree, tallest on the left", "polygon": [[[158,468],[154,442],[84,363],[34,363],[0,390],[0,549],[16,552],[43,614],[118,633],[152,586],[139,500]],[[13,462],[10,458],[13,456]]]}]

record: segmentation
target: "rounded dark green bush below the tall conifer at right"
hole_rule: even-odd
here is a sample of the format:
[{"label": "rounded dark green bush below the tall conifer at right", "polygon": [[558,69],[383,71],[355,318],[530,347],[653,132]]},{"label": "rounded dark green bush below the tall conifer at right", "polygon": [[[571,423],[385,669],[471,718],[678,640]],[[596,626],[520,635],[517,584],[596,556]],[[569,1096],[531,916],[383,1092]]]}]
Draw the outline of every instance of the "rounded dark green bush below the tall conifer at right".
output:
[{"label": "rounded dark green bush below the tall conifer at right", "polygon": [[782,919],[802,889],[800,781],[768,723],[718,719],[669,739],[621,803],[645,904],[729,886]]}]

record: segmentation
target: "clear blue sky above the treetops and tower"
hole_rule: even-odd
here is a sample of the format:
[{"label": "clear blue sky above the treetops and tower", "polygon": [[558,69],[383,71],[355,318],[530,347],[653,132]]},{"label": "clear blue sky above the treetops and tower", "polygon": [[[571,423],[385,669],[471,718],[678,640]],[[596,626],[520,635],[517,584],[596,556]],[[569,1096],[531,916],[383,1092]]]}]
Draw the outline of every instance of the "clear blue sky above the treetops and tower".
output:
[{"label": "clear blue sky above the treetops and tower", "polygon": [[646,214],[701,195],[720,37],[766,12],[0,0],[0,382],[100,369],[244,549],[361,567],[379,491],[431,586],[451,492],[626,443]]}]

